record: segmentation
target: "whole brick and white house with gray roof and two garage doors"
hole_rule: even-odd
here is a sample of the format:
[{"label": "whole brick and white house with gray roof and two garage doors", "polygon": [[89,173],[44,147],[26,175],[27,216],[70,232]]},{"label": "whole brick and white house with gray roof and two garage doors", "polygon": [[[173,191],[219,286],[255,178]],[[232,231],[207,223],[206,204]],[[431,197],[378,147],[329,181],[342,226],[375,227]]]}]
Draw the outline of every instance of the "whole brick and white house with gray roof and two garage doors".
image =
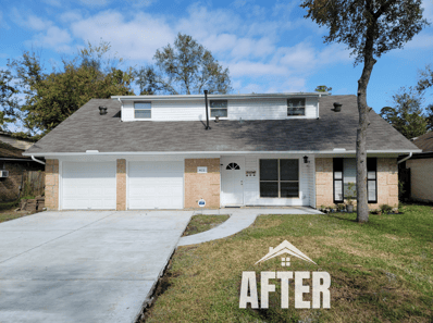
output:
[{"label": "whole brick and white house with gray roof and two garage doors", "polygon": [[[189,209],[205,200],[205,208],[317,208],[344,201],[356,181],[356,96],[209,95],[208,103],[211,129],[201,95],[90,100],[25,152],[47,159],[46,207]],[[370,123],[369,206],[397,206],[397,157],[420,150],[374,111]]]}]

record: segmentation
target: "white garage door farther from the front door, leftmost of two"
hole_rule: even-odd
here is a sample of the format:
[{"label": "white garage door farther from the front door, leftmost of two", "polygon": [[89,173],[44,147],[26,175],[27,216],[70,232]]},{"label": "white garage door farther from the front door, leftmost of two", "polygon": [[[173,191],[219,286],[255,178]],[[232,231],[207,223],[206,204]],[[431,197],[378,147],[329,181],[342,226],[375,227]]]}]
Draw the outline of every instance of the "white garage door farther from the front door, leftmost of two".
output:
[{"label": "white garage door farther from the front door, leftmost of two", "polygon": [[62,209],[115,210],[115,162],[64,162]]}]

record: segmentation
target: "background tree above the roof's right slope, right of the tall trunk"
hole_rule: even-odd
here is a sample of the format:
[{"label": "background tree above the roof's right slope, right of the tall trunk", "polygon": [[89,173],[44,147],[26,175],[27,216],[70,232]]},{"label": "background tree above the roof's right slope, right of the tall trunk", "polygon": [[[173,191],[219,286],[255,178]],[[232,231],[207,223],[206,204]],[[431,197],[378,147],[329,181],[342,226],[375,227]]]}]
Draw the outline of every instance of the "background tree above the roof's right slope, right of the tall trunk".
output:
[{"label": "background tree above the roof's right slope, right of the tall trunk", "polygon": [[394,107],[384,107],[381,116],[406,138],[411,139],[426,133],[428,122],[422,113],[422,95],[413,88],[400,88],[393,96]]}]

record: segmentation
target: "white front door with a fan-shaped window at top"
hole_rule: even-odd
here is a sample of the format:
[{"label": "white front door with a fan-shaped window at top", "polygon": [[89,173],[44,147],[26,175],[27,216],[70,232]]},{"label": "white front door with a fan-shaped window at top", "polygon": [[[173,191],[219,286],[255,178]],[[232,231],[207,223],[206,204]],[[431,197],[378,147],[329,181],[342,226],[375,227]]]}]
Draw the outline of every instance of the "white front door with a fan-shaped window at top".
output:
[{"label": "white front door with a fan-shaped window at top", "polygon": [[223,157],[221,163],[222,206],[243,206],[245,158]]}]

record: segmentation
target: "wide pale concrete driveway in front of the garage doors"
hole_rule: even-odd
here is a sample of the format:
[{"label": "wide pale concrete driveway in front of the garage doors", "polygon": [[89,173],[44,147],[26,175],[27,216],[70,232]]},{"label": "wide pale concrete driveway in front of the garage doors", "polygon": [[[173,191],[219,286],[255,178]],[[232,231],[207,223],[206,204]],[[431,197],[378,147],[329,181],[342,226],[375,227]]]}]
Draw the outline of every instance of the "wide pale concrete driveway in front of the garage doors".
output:
[{"label": "wide pale concrete driveway in front of the garage doors", "polygon": [[42,212],[0,224],[0,322],[134,322],[191,215]]}]

